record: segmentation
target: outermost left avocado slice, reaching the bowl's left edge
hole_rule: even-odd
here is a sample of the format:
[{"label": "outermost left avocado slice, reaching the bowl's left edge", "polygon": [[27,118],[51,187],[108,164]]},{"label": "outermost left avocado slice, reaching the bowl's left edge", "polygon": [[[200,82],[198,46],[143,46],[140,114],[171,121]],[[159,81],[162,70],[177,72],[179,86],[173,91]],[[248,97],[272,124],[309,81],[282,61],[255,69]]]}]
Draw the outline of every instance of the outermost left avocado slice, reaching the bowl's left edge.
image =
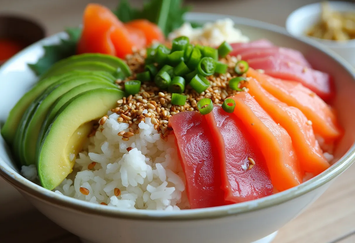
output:
[{"label": "outermost left avocado slice, reaching the bowl's left edge", "polygon": [[9,145],[13,145],[15,139],[16,129],[20,124],[21,118],[23,117],[26,109],[29,108],[31,103],[50,85],[58,81],[64,81],[64,79],[72,79],[77,76],[97,76],[102,77],[110,82],[115,81],[115,77],[104,71],[87,71],[78,70],[66,72],[65,74],[59,76],[49,77],[41,82],[37,83],[30,91],[28,91],[22,98],[16,103],[16,105],[11,109],[4,126],[1,128],[1,135],[4,140]]}]

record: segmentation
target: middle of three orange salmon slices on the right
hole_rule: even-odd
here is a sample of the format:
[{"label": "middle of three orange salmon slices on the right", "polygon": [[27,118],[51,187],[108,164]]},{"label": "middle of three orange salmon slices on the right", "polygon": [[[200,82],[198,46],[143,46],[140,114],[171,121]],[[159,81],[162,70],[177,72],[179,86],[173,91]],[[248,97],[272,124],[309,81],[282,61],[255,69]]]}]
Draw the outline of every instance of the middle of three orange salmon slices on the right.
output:
[{"label": "middle of three orange salmon slices on the right", "polygon": [[297,108],[280,102],[261,87],[255,79],[244,82],[260,106],[280,124],[290,135],[301,169],[317,175],[325,171],[330,164],[323,156],[323,151],[313,133],[312,124]]}]

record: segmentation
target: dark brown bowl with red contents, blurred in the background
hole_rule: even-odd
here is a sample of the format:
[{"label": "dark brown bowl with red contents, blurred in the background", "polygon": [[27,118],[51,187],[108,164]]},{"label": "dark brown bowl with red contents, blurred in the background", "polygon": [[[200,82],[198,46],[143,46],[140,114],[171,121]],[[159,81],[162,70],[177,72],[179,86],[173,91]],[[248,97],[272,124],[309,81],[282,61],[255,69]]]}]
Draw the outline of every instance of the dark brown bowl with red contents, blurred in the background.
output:
[{"label": "dark brown bowl with red contents, blurred in the background", "polygon": [[[23,16],[0,15],[0,39],[11,39],[27,47],[44,37],[44,27],[34,20]],[[4,60],[0,60],[0,65],[1,61]]]}]

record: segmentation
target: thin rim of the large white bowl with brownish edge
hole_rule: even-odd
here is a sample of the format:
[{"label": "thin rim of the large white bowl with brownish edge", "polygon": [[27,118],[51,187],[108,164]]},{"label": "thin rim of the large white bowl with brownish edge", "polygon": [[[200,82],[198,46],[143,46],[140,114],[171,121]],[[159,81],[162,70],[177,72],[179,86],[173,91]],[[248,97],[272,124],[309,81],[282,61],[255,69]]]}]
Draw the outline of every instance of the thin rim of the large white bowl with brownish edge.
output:
[{"label": "thin rim of the large white bowl with brownish edge", "polygon": [[[318,42],[313,41],[306,37],[295,37],[289,34],[284,28],[275,26],[272,24],[264,23],[261,21],[250,20],[248,18],[241,18],[229,15],[222,14],[213,14],[213,13],[200,13],[200,12],[191,12],[187,13],[185,16],[186,20],[193,21],[203,21],[203,20],[217,20],[223,18],[231,18],[236,25],[242,24],[250,27],[263,28],[268,31],[283,34],[285,36],[294,38],[298,41],[304,42],[311,47],[318,49],[319,51],[327,54],[329,58],[332,58],[334,61],[341,64],[344,69],[353,77],[355,80],[355,73],[353,72],[350,64],[346,63],[342,58],[333,53],[330,50],[321,47]],[[1,68],[6,68],[17,58],[21,58],[21,55],[29,51],[31,48],[37,47],[37,45],[43,45],[43,41],[49,41],[51,38],[62,37],[63,32],[57,33],[53,36],[47,37],[40,42],[37,42],[28,48],[24,49],[22,52],[16,54],[7,61]],[[91,202],[81,201],[75,198],[70,198],[68,196],[59,195],[53,191],[47,190],[35,183],[30,182],[29,180],[22,177],[14,169],[12,169],[4,160],[0,157],[0,176],[4,178],[7,182],[13,185],[21,193],[30,195],[42,202],[46,202],[56,207],[65,207],[68,210],[79,211],[83,214],[99,215],[105,217],[113,218],[127,218],[131,220],[159,220],[159,221],[182,221],[182,220],[201,220],[201,219],[212,219],[233,216],[238,214],[243,214],[246,212],[252,212],[256,210],[261,210],[267,207],[272,207],[275,205],[282,204],[291,199],[297,198],[301,195],[304,195],[322,185],[330,182],[332,179],[337,177],[339,174],[345,171],[355,160],[355,144],[351,146],[348,152],[340,158],[338,162],[333,164],[326,171],[321,174],[313,177],[310,180],[307,180],[300,185],[297,185],[294,188],[282,191],[277,194],[266,196],[261,199],[256,199],[247,202],[241,202],[238,204],[231,204],[218,207],[210,207],[204,209],[189,209],[189,210],[178,210],[178,211],[161,211],[161,210],[122,210],[115,207],[107,207],[104,205],[93,204]]]}]

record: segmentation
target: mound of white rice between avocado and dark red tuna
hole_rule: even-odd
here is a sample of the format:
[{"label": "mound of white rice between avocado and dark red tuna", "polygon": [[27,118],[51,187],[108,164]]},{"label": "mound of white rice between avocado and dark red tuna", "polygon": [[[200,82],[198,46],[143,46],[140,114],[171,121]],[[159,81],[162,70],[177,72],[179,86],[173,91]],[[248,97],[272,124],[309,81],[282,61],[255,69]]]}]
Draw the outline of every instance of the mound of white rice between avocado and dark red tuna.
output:
[{"label": "mound of white rice between avocado and dark red tuna", "polygon": [[[79,171],[70,174],[55,192],[120,209],[189,208],[174,137],[168,136],[167,142],[161,139],[151,119],[146,118],[145,123],[138,124],[140,133],[123,141],[117,134],[129,131],[129,127],[118,122],[118,117],[110,112],[109,119],[76,158],[74,171]],[[133,149],[128,152],[128,147]],[[92,162],[96,165],[88,170]],[[83,195],[80,187],[88,189],[89,194]],[[114,195],[115,188],[121,195]]]}]

